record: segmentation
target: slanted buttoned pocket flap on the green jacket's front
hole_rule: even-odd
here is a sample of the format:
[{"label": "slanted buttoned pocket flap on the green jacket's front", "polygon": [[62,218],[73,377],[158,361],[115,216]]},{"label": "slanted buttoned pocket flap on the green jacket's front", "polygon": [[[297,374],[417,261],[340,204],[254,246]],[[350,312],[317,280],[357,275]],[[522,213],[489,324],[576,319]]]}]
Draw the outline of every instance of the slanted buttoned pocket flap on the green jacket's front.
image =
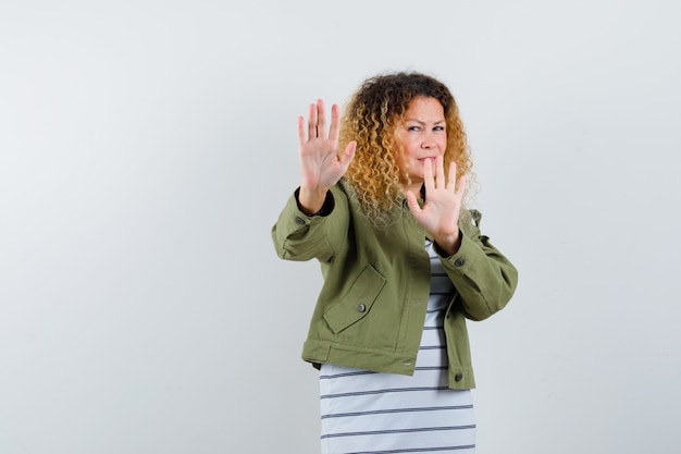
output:
[{"label": "slanted buttoned pocket flap on the green jacket's front", "polygon": [[385,278],[371,265],[367,266],[349,292],[324,312],[324,320],[331,331],[338,334],[364,318],[384,285]]}]

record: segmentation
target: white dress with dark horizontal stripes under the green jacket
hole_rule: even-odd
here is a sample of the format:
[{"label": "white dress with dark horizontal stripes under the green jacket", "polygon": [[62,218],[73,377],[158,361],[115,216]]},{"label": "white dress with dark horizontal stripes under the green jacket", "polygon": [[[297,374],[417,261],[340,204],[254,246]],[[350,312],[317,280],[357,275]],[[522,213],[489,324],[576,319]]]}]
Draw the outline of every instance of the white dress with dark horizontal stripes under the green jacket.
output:
[{"label": "white dress with dark horizontal stripes under the green jacket", "polygon": [[451,291],[431,256],[431,295],[414,375],[399,376],[322,365],[322,454],[475,452],[470,390],[447,388],[443,320]]}]

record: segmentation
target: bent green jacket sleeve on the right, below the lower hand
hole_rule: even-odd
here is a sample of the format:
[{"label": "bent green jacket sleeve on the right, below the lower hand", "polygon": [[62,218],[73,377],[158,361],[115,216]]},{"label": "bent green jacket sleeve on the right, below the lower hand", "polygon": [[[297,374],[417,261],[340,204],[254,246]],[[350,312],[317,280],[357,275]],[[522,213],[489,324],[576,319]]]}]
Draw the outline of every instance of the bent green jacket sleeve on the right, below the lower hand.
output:
[{"label": "bent green jacket sleeve on the right, below the lower hand", "polygon": [[481,234],[480,213],[474,211],[475,224],[462,226],[461,246],[456,254],[443,256],[445,271],[456,287],[467,318],[484,320],[502,310],[518,285],[518,270]]}]

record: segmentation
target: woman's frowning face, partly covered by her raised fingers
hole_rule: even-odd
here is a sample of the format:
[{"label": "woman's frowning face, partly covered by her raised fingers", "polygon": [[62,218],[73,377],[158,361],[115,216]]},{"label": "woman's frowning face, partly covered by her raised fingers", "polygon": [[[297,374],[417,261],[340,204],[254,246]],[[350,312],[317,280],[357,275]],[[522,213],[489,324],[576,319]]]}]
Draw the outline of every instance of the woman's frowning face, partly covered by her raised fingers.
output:
[{"label": "woman's frowning face, partly covered by her raised fingers", "polygon": [[414,98],[405,112],[405,122],[397,126],[397,140],[404,156],[399,168],[411,179],[411,189],[418,192],[423,184],[423,163],[443,156],[447,148],[445,110],[435,98]]}]

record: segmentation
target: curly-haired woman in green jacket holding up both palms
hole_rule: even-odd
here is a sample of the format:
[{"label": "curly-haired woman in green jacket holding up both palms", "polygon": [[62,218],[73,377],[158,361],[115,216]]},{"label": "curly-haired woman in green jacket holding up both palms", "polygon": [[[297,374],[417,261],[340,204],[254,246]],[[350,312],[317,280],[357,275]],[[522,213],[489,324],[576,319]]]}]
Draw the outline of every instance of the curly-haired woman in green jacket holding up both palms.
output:
[{"label": "curly-haired woman in green jacket holding up both palms", "polygon": [[300,187],[272,230],[324,283],[302,357],[321,369],[322,452],[474,452],[466,319],[518,274],[463,209],[471,160],[447,87],[419,73],[366,81],[343,116],[298,119]]}]

